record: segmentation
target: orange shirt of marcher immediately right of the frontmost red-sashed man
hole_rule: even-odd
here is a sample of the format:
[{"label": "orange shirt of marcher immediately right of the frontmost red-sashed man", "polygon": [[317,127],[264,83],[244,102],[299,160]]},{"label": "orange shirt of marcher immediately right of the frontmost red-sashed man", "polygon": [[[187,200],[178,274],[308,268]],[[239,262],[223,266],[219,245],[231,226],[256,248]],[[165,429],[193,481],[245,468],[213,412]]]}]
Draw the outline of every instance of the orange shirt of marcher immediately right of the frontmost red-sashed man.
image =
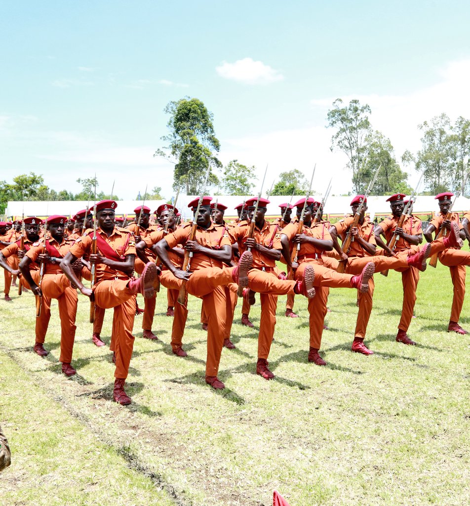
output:
[{"label": "orange shirt of marcher immediately right of the frontmost red-sashed man", "polygon": [[[191,228],[191,223],[185,223],[180,228],[167,235],[165,239],[168,243],[168,246],[170,246],[170,248],[174,248],[178,246],[178,244],[184,246],[184,244],[186,244],[186,241],[190,240]],[[231,246],[231,242],[228,238],[225,227],[222,225],[214,225],[213,223],[211,223],[209,228],[205,230],[201,227],[196,227],[195,240],[202,246],[210,249],[220,249],[222,246]],[[205,267],[221,268],[222,266],[223,262],[208,257],[204,253],[195,252],[191,258],[190,267],[192,271],[203,269]]]}]

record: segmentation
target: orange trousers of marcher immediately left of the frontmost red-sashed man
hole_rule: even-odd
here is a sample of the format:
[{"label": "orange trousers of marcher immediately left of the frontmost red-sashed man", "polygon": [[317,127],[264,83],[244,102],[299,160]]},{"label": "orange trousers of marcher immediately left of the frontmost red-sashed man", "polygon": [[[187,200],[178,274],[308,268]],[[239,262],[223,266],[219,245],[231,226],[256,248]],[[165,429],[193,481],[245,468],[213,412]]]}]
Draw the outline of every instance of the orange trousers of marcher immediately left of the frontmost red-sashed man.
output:
[{"label": "orange trousers of marcher immediately left of the frontmost red-sashed man", "polygon": [[[75,341],[75,318],[77,316],[77,291],[72,288],[65,274],[44,274],[41,291],[50,299],[59,303],[61,324],[60,362],[72,361],[73,343]],[[41,309],[42,312],[42,309]]]}]

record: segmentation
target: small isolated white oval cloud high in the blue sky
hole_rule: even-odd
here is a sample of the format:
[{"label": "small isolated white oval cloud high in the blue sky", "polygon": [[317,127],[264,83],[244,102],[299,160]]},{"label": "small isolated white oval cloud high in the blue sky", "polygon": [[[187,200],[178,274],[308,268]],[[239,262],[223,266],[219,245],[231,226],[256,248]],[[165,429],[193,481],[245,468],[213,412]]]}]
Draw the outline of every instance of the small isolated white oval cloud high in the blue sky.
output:
[{"label": "small isolated white oval cloud high in the blue sky", "polygon": [[265,85],[284,79],[283,74],[278,70],[252,58],[243,58],[235,63],[224,61],[215,67],[215,70],[224,79],[245,82],[249,85]]}]

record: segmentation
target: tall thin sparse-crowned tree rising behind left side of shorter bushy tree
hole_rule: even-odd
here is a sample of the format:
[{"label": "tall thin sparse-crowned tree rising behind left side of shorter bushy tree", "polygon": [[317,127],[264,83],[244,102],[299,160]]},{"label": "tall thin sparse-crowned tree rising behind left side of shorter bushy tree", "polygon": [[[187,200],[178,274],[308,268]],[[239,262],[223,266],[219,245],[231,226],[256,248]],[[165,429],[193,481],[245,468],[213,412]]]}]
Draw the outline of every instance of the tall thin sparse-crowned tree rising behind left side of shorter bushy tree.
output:
[{"label": "tall thin sparse-crowned tree rising behind left side of shorter bushy tree", "polygon": [[[347,106],[338,98],[333,102],[333,108],[328,110],[327,128],[336,129],[332,137],[331,150],[340,149],[348,157],[348,167],[353,173],[352,182],[356,193],[364,189],[364,159],[367,145],[365,138],[370,133],[368,114],[370,107],[360,105],[359,100],[351,100]],[[367,186],[367,185],[366,185]]]}]

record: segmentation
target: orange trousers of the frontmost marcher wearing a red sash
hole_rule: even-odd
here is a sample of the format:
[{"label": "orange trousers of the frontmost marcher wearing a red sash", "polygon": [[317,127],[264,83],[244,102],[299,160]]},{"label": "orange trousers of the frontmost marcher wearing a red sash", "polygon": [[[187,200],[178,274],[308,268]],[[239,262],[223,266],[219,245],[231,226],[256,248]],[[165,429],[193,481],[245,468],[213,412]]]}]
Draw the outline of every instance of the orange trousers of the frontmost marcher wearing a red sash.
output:
[{"label": "orange trousers of the frontmost marcher wearing a red sash", "polygon": [[111,341],[116,354],[116,378],[127,377],[134,348],[132,328],[136,295],[129,290],[128,283],[128,279],[104,279],[93,287],[96,305],[103,309],[114,308]]}]

